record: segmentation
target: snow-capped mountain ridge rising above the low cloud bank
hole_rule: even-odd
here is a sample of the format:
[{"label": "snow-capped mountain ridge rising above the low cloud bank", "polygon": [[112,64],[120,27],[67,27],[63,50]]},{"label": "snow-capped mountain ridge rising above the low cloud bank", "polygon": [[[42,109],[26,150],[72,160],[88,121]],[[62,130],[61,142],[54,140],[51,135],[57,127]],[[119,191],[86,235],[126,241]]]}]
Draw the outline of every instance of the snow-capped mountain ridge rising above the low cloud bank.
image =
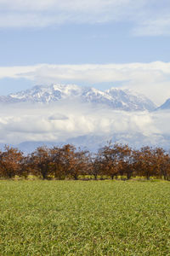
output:
[{"label": "snow-capped mountain ridge rising above the low cloud bank", "polygon": [[59,100],[79,100],[105,104],[110,108],[126,111],[154,110],[156,105],[145,96],[135,94],[130,90],[111,88],[110,90],[97,90],[91,87],[81,87],[76,84],[51,84],[49,86],[37,85],[31,90],[0,96],[0,102],[40,102],[50,103]]}]

